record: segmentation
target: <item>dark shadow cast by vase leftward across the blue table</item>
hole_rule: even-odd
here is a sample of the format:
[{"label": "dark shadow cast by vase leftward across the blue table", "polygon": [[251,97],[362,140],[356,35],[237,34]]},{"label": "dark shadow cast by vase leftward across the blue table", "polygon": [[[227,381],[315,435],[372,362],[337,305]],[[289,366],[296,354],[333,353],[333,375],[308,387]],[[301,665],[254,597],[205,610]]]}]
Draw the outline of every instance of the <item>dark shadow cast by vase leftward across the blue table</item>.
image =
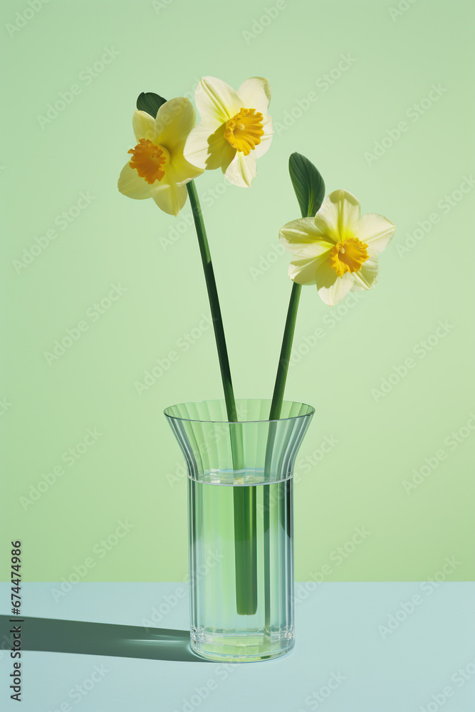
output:
[{"label": "dark shadow cast by vase leftward across the blue table", "polygon": [[[0,616],[6,639],[9,639],[9,631],[16,624],[10,620],[8,616]],[[189,631],[186,630],[50,618],[25,617],[21,624],[21,647],[24,650],[58,653],[207,662],[190,649]]]}]

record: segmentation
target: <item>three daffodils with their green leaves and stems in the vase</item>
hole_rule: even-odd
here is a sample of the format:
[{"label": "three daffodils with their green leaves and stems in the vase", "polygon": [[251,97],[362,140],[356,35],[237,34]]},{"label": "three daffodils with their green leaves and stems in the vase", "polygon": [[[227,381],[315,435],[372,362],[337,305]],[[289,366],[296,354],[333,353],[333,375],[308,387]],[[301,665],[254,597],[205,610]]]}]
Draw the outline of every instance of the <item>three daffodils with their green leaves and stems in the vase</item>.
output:
[{"label": "three daffodils with their green leaves and stems in the vase", "polygon": [[[218,292],[207,233],[204,228],[194,179],[205,170],[221,169],[226,179],[239,187],[251,187],[257,174],[257,159],[271,147],[273,128],[268,115],[271,88],[268,79],[251,77],[234,90],[224,81],[204,77],[197,85],[195,103],[201,117],[196,124],[192,103],[178,97],[165,100],[142,93],[132,118],[135,147],[120,173],[119,191],[138,200],[152,198],[166,213],[177,216],[189,197],[209,296],[219,367],[229,422],[238,422],[231,368],[219,307]],[[339,189],[325,197],[325,184],[318,169],[306,157],[293,153],[289,159],[293,189],[301,217],[281,228],[283,246],[293,259],[288,276],[293,285],[283,331],[269,420],[280,417],[291,356],[298,302],[303,285],[315,285],[320,298],[335,305],[350,290],[375,286],[378,255],[390,243],[395,226],[381,215],[361,215],[360,203],[350,192]],[[239,442],[233,446],[234,469],[241,468]],[[251,511],[255,488],[236,488],[234,520],[236,542],[241,538],[246,512]],[[243,558],[244,557],[244,558]],[[239,572],[246,575],[246,553],[236,548],[236,585]],[[255,597],[239,596],[240,614],[255,612]],[[240,600],[241,598],[241,600]]]}]

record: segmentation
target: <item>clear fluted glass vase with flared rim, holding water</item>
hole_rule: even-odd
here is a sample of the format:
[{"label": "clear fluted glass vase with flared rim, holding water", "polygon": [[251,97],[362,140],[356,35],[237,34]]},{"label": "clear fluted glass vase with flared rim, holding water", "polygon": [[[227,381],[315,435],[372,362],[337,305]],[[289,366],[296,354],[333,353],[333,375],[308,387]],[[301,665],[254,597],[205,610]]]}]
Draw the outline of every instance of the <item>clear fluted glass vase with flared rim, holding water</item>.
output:
[{"label": "clear fluted glass vase with flared rim, holding water", "polygon": [[165,415],[188,472],[191,643],[212,660],[289,651],[293,622],[293,464],[314,409],[238,400],[182,403]]}]

